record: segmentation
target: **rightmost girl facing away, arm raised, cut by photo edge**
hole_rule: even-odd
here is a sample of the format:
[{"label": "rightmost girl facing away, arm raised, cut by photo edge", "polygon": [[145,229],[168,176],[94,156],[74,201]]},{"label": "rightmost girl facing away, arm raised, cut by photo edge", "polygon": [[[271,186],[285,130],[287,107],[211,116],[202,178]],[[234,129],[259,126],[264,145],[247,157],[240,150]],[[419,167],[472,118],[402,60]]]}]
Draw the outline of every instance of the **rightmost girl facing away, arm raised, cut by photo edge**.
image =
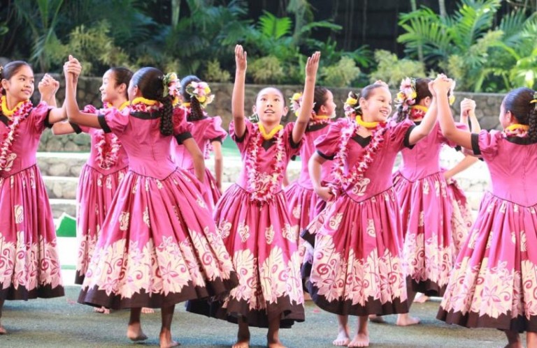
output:
[{"label": "rightmost girl facing away, arm raised, cut by photo edge", "polygon": [[503,130],[469,133],[454,126],[450,81],[438,81],[438,118],[450,141],[480,155],[492,181],[457,257],[438,319],[470,328],[498,328],[506,347],[537,347],[537,92],[510,91],[500,107]]}]

